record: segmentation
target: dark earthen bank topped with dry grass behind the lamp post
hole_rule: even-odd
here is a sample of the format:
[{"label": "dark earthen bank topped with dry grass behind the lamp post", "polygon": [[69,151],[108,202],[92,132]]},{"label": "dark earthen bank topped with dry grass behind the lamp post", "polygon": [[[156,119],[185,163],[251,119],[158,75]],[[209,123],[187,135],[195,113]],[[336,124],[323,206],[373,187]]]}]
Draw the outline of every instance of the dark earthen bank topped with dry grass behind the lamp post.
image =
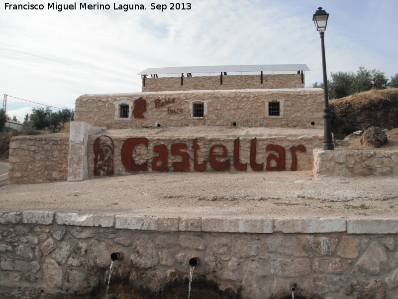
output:
[{"label": "dark earthen bank topped with dry grass behind the lamp post", "polygon": [[369,127],[398,128],[398,88],[372,89],[329,104],[332,131],[338,139]]}]

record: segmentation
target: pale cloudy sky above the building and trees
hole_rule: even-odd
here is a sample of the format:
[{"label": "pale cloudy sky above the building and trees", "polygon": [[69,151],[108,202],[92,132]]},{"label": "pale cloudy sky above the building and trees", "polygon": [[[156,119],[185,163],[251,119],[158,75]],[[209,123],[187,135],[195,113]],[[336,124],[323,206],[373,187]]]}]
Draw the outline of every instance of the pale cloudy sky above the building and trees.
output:
[{"label": "pale cloudy sky above the building and trees", "polygon": [[[31,102],[57,111],[74,109],[84,94],[140,92],[137,73],[150,67],[306,64],[308,87],[322,81],[312,21],[319,6],[330,14],[328,76],[359,66],[388,78],[398,73],[398,0],[188,1],[0,0],[0,100],[8,95],[8,115],[22,122],[32,108],[46,107]],[[75,10],[48,7],[75,2]],[[9,9],[6,3],[44,9]],[[80,3],[109,9],[80,9]],[[170,9],[173,3],[180,9]],[[114,9],[119,4],[146,9]],[[162,4],[163,11],[151,9]]]}]

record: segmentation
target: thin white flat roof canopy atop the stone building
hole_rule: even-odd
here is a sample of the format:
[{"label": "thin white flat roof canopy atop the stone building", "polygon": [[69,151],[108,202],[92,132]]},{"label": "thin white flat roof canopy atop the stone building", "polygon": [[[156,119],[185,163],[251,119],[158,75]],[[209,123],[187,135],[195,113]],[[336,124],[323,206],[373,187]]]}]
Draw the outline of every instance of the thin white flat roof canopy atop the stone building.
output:
[{"label": "thin white flat roof canopy atop the stone building", "polygon": [[309,71],[306,64],[257,64],[257,65],[216,65],[216,66],[179,66],[147,68],[137,75],[161,75],[184,73],[221,73],[221,72],[288,72]]}]

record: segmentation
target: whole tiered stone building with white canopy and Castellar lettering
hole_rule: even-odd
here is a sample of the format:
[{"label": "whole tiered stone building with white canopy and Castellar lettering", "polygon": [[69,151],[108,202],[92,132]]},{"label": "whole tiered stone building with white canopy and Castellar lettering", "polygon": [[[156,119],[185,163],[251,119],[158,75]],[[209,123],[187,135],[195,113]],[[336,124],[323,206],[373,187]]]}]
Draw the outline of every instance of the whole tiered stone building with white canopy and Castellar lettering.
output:
[{"label": "whole tiered stone building with white canopy and Castellar lettering", "polygon": [[33,137],[15,139],[10,181],[312,169],[312,151],[323,140],[323,91],[304,88],[308,70],[303,64],[146,69],[139,73],[142,92],[80,96],[69,140],[49,136],[40,142],[52,146],[26,149]]}]

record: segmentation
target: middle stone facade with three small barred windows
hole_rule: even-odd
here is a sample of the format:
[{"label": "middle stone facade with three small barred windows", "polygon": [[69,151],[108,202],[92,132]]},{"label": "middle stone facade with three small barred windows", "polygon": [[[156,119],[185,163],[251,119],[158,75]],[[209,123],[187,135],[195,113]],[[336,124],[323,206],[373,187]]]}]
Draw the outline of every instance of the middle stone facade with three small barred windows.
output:
[{"label": "middle stone facade with three small barred windows", "polygon": [[[137,101],[145,108],[137,110]],[[269,116],[269,105],[279,103],[279,115]],[[76,100],[75,121],[107,129],[225,126],[266,128],[323,128],[322,89],[266,89],[231,91],[176,91],[135,94],[84,95]],[[203,103],[203,117],[193,105]],[[120,117],[126,107],[126,117]]]}]

